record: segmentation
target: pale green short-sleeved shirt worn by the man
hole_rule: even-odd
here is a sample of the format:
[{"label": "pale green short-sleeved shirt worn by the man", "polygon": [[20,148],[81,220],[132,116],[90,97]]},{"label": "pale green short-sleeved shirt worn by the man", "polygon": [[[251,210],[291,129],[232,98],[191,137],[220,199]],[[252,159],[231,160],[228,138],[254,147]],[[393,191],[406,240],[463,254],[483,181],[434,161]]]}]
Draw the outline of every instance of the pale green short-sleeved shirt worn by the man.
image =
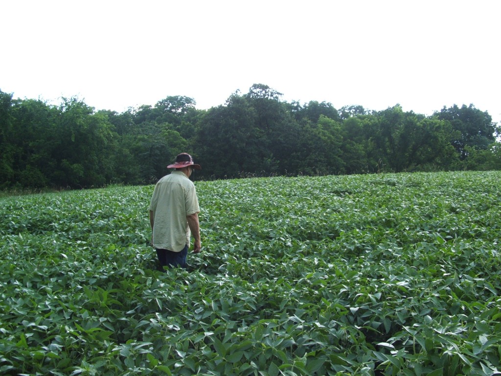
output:
[{"label": "pale green short-sleeved shirt worn by the man", "polygon": [[190,245],[191,231],[186,216],[200,212],[195,184],[181,171],[158,180],[151,197],[153,247],[180,252]]}]

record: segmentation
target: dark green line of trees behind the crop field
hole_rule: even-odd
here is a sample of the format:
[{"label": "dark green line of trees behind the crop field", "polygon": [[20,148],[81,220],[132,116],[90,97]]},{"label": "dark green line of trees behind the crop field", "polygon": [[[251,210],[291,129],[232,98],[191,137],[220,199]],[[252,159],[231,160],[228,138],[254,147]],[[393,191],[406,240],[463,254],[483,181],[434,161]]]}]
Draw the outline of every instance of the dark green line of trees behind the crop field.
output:
[{"label": "dark green line of trees behind the crop field", "polygon": [[0,90],[0,189],[153,183],[185,151],[196,179],[501,169],[501,128],[472,104],[425,116],[281,96],[255,84],[208,110],[169,96],[118,113]]}]

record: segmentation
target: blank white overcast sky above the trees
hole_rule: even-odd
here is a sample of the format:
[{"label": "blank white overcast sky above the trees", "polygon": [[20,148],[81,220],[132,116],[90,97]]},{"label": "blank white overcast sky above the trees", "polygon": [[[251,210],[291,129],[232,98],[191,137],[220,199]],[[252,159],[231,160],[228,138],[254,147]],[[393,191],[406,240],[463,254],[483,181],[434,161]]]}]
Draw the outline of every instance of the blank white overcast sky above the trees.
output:
[{"label": "blank white overcast sky above the trees", "polygon": [[17,0],[0,5],[0,90],[118,112],[198,109],[262,83],[283,100],[501,120],[501,2]]}]

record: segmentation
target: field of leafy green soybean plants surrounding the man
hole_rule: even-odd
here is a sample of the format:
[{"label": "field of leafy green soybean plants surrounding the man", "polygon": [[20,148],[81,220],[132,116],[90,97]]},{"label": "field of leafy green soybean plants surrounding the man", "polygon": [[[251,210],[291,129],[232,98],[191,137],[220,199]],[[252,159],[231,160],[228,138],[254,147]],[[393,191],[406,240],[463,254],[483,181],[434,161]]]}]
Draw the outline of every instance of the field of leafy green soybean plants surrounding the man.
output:
[{"label": "field of leafy green soybean plants surrounding the man", "polygon": [[165,273],[152,185],[0,199],[0,373],[499,374],[500,179],[198,181]]}]

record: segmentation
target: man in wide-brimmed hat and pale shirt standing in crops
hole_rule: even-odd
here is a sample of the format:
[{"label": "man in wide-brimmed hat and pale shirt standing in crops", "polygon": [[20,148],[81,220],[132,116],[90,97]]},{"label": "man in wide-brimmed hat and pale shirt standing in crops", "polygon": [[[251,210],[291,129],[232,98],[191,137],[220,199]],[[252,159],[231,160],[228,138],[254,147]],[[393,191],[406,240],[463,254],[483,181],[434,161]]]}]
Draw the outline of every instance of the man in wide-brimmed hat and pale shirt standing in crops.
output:
[{"label": "man in wide-brimmed hat and pale shirt standing in crops", "polygon": [[151,244],[162,268],[186,267],[186,255],[193,234],[193,253],[200,252],[200,225],[195,184],[189,179],[193,169],[201,169],[187,153],[177,155],[167,168],[175,168],[158,180],[149,207]]}]

